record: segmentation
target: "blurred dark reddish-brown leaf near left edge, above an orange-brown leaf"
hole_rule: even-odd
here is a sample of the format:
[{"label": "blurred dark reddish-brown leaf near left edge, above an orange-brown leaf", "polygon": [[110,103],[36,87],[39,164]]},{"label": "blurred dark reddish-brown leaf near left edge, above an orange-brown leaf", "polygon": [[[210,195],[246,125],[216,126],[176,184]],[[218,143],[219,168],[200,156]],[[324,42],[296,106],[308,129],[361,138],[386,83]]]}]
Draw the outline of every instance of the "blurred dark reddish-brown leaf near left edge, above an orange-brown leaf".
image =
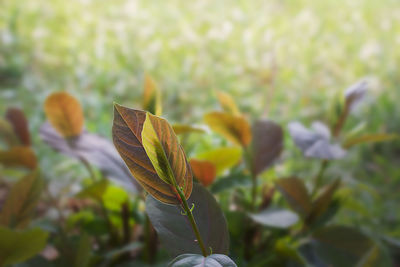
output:
[{"label": "blurred dark reddish-brown leaf near left edge, above an orange-brown leaf", "polygon": [[8,108],[6,119],[10,122],[14,129],[14,133],[18,136],[22,145],[31,145],[31,136],[29,134],[28,121],[24,112],[18,108]]}]

